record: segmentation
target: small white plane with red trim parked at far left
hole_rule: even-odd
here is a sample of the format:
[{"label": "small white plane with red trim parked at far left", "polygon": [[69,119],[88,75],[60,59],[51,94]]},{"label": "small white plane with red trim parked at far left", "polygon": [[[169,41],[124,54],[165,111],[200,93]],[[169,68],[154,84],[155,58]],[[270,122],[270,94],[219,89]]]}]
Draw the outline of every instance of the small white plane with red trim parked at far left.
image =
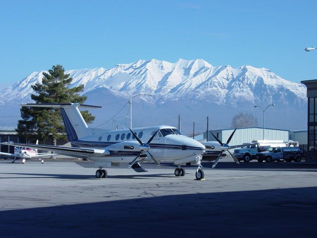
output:
[{"label": "small white plane with red trim parked at far left", "polygon": [[[9,142],[13,143],[13,142]],[[39,143],[39,141],[36,141],[36,145]],[[28,145],[28,144],[25,144]],[[19,146],[15,146],[14,147],[14,154],[11,153],[4,153],[4,152],[0,152],[0,155],[5,155],[7,157],[12,158],[12,163],[15,162],[16,158],[18,159],[22,159],[22,163],[25,164],[26,159],[32,159],[32,158],[38,158],[39,160],[41,160],[41,163],[44,164],[44,157],[51,157],[55,154],[48,154],[48,153],[38,153],[37,149],[33,149],[31,147],[27,147],[27,146],[23,146],[23,147],[19,147]]]}]

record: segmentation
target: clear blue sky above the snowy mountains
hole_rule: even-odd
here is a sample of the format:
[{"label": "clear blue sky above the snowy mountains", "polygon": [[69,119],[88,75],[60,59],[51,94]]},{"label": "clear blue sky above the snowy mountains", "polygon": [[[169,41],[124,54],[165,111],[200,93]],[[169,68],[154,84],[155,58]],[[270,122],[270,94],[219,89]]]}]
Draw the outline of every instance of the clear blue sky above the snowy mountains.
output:
[{"label": "clear blue sky above the snowy mountains", "polygon": [[204,59],[317,78],[317,1],[10,0],[0,5],[0,88],[55,64]]}]

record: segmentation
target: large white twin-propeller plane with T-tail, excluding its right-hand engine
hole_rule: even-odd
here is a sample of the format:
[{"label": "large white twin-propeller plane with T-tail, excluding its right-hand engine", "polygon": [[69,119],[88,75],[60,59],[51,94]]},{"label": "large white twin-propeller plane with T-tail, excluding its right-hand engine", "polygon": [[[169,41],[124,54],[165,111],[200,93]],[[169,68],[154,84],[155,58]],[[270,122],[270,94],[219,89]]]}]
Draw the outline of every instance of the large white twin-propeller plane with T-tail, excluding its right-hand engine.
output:
[{"label": "large white twin-propeller plane with T-tail, excluding its right-hand engine", "polygon": [[[81,108],[101,108],[78,103],[64,104],[22,104],[24,107],[58,108],[65,126],[67,138],[72,147],[7,143],[15,146],[28,146],[50,150],[56,154],[86,158],[95,161],[97,178],[106,178],[103,168],[128,164],[136,172],[146,172],[141,162],[153,161],[157,166],[162,161],[171,161],[177,168],[175,176],[184,176],[181,165],[197,165],[196,179],[204,178],[201,166],[202,154],[206,148],[198,141],[182,135],[172,126],[151,126],[124,130],[98,129],[88,127],[83,119]],[[143,141],[147,141],[146,143]]]}]

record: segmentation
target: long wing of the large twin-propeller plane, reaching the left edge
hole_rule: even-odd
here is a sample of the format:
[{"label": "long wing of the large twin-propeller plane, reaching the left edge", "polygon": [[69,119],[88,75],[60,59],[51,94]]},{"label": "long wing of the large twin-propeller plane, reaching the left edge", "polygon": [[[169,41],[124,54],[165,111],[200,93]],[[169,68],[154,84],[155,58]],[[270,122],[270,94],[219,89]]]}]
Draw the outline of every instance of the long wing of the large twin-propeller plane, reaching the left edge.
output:
[{"label": "long wing of the large twin-propeller plane, reaching the left edge", "polygon": [[[37,144],[24,144],[24,143],[15,143],[15,142],[2,142],[2,145],[10,146],[20,146],[20,147],[29,147],[40,150],[49,150],[53,151],[58,155],[66,155],[78,158],[89,158],[89,157],[102,157],[109,155],[110,152],[104,149],[89,149],[89,148],[75,148],[75,147],[63,147],[63,146],[53,146],[53,145],[37,145]],[[51,156],[52,154],[50,154]],[[32,157],[34,158],[34,156]]]}]

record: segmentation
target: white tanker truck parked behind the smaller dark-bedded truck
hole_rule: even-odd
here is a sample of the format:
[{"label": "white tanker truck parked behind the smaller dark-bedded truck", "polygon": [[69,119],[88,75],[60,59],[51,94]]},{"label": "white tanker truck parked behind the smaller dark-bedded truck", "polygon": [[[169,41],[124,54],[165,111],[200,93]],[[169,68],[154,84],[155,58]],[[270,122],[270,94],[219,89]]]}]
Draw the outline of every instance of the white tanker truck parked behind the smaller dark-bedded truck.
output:
[{"label": "white tanker truck parked behind the smaller dark-bedded truck", "polygon": [[241,149],[235,149],[233,155],[239,161],[249,162],[257,159],[257,154],[265,151],[269,147],[286,147],[286,143],[282,140],[253,140],[252,143],[255,144],[241,147]]}]

